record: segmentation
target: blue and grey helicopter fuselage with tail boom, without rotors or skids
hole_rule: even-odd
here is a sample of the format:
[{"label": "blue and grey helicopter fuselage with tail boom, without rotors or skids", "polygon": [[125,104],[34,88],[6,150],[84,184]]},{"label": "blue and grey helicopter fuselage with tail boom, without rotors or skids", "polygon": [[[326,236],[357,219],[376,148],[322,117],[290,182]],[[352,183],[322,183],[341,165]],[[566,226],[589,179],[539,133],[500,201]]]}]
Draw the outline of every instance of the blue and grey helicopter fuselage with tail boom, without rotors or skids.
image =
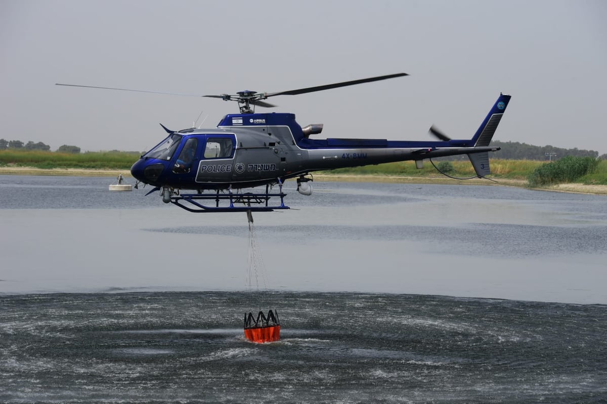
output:
[{"label": "blue and grey helicopter fuselage with tail boom, without rotors or skids", "polygon": [[473,139],[311,137],[320,131],[322,125],[302,128],[291,113],[228,114],[217,128],[169,131],[166,139],[135,162],[131,173],[155,187],[242,189],[277,184],[313,171],[497,150],[475,147]]}]

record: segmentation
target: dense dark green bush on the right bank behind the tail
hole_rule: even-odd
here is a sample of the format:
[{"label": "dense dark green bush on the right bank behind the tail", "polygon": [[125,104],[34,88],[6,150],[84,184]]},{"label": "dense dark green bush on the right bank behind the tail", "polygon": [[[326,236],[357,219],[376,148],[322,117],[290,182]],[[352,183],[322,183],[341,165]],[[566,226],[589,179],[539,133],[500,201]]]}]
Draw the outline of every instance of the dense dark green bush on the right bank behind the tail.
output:
[{"label": "dense dark green bush on the right bank behind the tail", "polygon": [[[577,182],[585,176],[600,180],[602,177],[600,173],[595,173],[598,165],[599,161],[592,157],[563,157],[557,161],[540,165],[527,177],[527,181],[531,187],[542,187]],[[594,174],[598,176],[595,177]]]}]

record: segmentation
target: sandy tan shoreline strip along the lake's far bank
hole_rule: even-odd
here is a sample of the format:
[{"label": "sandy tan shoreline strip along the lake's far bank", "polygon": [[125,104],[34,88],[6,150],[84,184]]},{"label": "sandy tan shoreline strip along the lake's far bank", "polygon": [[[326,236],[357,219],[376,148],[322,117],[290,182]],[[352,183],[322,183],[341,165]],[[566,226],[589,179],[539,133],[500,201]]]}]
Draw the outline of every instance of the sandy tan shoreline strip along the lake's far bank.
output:
[{"label": "sandy tan shoreline strip along the lake's far bank", "polygon": [[[78,177],[112,177],[122,174],[125,179],[132,179],[129,170],[97,169],[97,168],[36,168],[36,167],[0,167],[0,175],[39,175],[39,176],[78,176]],[[447,185],[488,185],[526,188],[527,181],[523,179],[490,180],[473,178],[469,180],[456,180],[444,176],[388,176],[381,174],[327,174],[313,173],[314,179],[340,182],[388,182],[393,184],[447,184]],[[541,191],[558,191],[569,193],[607,195],[607,185],[585,184],[557,184],[546,188],[533,188]]]}]

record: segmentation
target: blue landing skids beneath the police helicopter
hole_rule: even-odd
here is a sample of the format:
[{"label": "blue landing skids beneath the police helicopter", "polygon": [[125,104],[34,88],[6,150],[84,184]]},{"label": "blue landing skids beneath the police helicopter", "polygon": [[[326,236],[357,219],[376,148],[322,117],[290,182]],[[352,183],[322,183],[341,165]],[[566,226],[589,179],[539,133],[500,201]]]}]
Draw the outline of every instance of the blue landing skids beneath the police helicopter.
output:
[{"label": "blue landing skids beneath the police helicopter", "polygon": [[[282,184],[280,184],[280,192],[270,194],[268,187],[265,193],[232,193],[228,189],[228,193],[215,194],[181,194],[179,196],[171,196],[171,204],[177,205],[189,212],[204,213],[204,212],[271,212],[278,209],[290,209],[283,198],[287,194],[282,192]],[[271,197],[279,197],[280,205],[272,206],[269,204]],[[197,202],[198,200],[213,201],[213,205],[203,205]],[[183,203],[188,202],[189,205]],[[224,204],[220,204],[224,202]]]}]

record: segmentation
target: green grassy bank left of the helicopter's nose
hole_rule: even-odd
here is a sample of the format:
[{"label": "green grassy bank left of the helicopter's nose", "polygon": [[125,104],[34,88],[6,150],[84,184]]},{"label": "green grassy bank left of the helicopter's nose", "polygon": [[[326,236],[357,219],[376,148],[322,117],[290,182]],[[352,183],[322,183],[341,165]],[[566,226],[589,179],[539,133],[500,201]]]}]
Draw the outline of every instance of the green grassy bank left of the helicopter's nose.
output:
[{"label": "green grassy bank left of the helicopter's nose", "polygon": [[138,153],[125,151],[76,154],[24,149],[0,150],[0,166],[16,165],[35,168],[106,168],[128,170],[138,158]]}]

